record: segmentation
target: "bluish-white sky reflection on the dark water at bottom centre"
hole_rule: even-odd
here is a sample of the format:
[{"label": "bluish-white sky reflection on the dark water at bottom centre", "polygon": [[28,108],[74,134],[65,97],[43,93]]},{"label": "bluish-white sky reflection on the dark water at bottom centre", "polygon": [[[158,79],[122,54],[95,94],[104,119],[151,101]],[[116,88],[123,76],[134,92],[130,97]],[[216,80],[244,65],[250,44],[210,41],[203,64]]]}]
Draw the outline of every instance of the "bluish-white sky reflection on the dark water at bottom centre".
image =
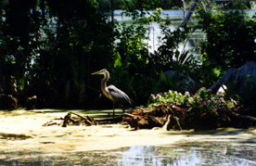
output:
[{"label": "bluish-white sky reflection on the dark water at bottom centre", "polygon": [[196,150],[192,150],[188,155],[185,149],[173,150],[172,147],[130,147],[118,165],[198,165],[202,162],[203,158]]}]

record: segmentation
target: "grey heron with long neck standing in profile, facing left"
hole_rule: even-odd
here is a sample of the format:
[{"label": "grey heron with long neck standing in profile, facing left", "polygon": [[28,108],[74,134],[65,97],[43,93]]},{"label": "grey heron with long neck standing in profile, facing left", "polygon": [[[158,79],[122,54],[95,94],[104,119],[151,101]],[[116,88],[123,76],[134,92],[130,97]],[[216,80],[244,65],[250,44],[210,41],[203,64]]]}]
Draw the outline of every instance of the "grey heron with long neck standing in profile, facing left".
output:
[{"label": "grey heron with long neck standing in profile, facing left", "polygon": [[109,71],[108,70],[99,70],[93,72],[92,75],[102,74],[104,78],[101,80],[101,91],[105,96],[107,96],[113,102],[113,119],[115,118],[115,104],[119,103],[122,105],[122,112],[124,113],[123,105],[134,107],[134,101],[127,96],[122,90],[117,88],[114,85],[109,85],[107,87],[107,82],[109,81]]}]

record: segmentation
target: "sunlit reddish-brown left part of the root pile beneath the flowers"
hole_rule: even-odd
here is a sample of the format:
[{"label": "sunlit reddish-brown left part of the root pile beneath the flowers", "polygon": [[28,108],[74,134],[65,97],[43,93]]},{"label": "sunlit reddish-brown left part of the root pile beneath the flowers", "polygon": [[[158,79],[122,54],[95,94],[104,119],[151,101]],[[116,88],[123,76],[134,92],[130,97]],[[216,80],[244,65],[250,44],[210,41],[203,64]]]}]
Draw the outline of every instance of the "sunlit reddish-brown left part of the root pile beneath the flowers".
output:
[{"label": "sunlit reddish-brown left part of the root pile beneath the flowers", "polygon": [[122,121],[127,121],[134,129],[152,129],[162,127],[164,130],[188,129],[189,108],[161,104],[149,109],[134,109],[132,114],[124,113]]}]

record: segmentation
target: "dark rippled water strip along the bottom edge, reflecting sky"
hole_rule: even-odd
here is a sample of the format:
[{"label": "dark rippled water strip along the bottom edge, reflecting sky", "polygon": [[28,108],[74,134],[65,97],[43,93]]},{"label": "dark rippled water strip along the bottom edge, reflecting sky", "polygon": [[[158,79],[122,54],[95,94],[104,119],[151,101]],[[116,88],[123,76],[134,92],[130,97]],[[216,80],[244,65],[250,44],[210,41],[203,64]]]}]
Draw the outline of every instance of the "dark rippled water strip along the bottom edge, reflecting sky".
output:
[{"label": "dark rippled water strip along the bottom edge, reflecting sky", "polygon": [[255,141],[194,142],[90,152],[0,152],[0,165],[256,165]]}]

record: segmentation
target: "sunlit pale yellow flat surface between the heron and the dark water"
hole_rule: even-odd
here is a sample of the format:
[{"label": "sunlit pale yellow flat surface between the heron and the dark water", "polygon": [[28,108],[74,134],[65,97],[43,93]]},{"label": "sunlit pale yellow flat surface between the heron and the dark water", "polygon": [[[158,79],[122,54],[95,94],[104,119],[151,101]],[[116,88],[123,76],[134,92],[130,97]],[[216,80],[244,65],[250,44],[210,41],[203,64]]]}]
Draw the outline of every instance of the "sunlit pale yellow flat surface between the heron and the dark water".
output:
[{"label": "sunlit pale yellow flat surface between the heron and the dark water", "polygon": [[[76,112],[76,111],[74,111]],[[77,113],[83,115],[84,112]],[[194,131],[134,131],[127,125],[43,126],[47,121],[64,117],[67,111],[52,109],[0,111],[0,149],[38,151],[89,151],[119,147],[171,145],[179,141],[255,137],[256,130],[219,129],[203,133]],[[87,114],[88,115],[88,114]],[[95,116],[95,114],[90,114]]]}]

